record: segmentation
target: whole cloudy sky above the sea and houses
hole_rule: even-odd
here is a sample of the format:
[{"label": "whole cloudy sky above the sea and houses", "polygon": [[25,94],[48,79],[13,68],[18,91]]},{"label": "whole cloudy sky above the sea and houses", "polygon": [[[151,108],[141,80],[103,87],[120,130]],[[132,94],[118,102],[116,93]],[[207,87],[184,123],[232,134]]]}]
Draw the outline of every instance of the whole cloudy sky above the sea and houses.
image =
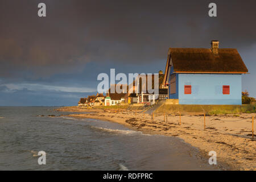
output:
[{"label": "whole cloudy sky above the sea and houses", "polygon": [[[46,4],[46,17],[38,4]],[[158,73],[168,48],[237,48],[256,97],[256,1],[0,0],[0,106],[70,106],[97,76]]]}]

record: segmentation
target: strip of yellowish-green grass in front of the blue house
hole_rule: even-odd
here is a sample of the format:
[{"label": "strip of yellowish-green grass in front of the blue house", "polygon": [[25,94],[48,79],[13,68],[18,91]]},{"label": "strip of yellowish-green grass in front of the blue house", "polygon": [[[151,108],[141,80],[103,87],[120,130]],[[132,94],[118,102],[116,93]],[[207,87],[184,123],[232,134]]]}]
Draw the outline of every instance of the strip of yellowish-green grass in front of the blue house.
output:
[{"label": "strip of yellowish-green grass in front of the blue house", "polygon": [[244,105],[163,105],[155,110],[159,114],[240,114],[255,113],[255,104]]}]

